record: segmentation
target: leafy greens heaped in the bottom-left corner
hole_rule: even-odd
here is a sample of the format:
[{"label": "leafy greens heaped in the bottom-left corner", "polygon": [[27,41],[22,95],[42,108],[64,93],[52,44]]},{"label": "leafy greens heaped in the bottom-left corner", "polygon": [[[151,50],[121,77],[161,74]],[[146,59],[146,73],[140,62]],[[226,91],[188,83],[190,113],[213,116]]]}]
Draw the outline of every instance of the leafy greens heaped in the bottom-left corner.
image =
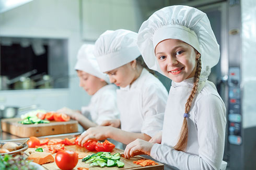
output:
[{"label": "leafy greens heaped in the bottom-left corner", "polygon": [[27,161],[21,155],[12,157],[11,155],[5,154],[4,156],[0,155],[0,169],[1,170],[36,170],[37,168],[29,164],[30,161]]}]

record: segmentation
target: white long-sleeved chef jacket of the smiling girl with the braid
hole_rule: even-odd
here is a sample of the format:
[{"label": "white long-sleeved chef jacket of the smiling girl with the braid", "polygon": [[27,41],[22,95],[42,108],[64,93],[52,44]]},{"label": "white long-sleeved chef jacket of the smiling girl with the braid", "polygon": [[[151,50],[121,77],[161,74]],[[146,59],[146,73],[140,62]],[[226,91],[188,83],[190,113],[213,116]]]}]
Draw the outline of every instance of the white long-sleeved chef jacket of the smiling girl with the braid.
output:
[{"label": "white long-sleeved chef jacket of the smiling girl with the braid", "polygon": [[[194,78],[172,81],[161,145],[155,143],[150,156],[173,169],[219,169],[224,153],[226,108],[215,85],[206,81],[192,103],[188,117],[188,145],[185,152],[174,150],[183,122],[185,102]],[[169,169],[165,167],[165,169]]]}]

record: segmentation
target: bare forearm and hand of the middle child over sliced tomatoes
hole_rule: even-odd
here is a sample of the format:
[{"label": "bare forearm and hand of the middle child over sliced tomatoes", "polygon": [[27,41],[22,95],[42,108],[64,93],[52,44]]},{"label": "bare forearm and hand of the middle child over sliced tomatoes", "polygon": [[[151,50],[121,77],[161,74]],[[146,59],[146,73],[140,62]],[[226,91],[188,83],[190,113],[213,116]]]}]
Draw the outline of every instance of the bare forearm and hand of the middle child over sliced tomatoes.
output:
[{"label": "bare forearm and hand of the middle child over sliced tomatoes", "polygon": [[151,137],[142,133],[126,132],[112,126],[97,126],[89,128],[82,135],[80,135],[78,138],[78,143],[79,145],[80,143],[83,145],[89,139],[103,140],[107,138],[117,140],[127,145],[137,138],[148,141]]}]

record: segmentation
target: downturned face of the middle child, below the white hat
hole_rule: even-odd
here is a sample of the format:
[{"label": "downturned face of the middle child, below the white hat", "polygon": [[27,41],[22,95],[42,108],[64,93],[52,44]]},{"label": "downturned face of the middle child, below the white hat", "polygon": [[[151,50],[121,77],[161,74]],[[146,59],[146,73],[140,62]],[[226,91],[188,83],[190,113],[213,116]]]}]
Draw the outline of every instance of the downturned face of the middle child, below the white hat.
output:
[{"label": "downturned face of the middle child, below the white hat", "polygon": [[133,60],[117,69],[106,72],[109,75],[110,83],[120,87],[126,87],[134,82],[136,60]]}]

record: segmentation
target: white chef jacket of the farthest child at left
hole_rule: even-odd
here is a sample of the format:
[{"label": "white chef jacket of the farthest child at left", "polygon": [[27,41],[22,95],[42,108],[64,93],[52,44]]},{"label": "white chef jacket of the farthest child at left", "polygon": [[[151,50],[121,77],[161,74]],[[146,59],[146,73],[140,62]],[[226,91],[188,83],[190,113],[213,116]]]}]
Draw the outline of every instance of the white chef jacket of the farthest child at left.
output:
[{"label": "white chef jacket of the farthest child at left", "polygon": [[119,119],[117,107],[117,86],[108,84],[101,87],[92,97],[87,107],[81,112],[92,122],[100,125],[104,120]]}]

